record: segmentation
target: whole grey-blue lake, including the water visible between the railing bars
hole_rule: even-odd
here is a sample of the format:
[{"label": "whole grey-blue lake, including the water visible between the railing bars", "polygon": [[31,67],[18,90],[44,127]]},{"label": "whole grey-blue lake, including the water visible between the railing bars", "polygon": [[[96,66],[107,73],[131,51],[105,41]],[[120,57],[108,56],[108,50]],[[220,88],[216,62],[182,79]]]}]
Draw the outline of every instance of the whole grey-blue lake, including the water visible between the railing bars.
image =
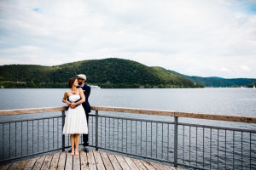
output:
[{"label": "whole grey-blue lake, including the water visible between the railing bars", "polygon": [[[0,89],[0,94],[1,94],[1,99],[0,99],[0,110],[11,110],[11,109],[26,109],[26,108],[40,108],[40,107],[55,107],[55,106],[62,106],[65,105],[61,102],[61,99],[63,98],[64,92],[67,89],[61,89],[61,88],[45,88],[45,89],[41,89],[41,88],[35,88],[35,89]],[[152,109],[152,110],[167,110],[167,111],[189,111],[189,112],[200,112],[200,113],[215,113],[215,114],[226,114],[226,115],[241,115],[241,116],[256,116],[256,89],[253,88],[168,88],[168,89],[158,89],[158,88],[154,88],[154,89],[96,89],[93,88],[91,89],[91,93],[90,93],[90,105],[96,105],[96,106],[113,106],[113,107],[128,107],[128,108],[140,108],[140,109]],[[94,113],[94,111],[92,111],[92,113]],[[51,114],[55,114],[55,113],[51,113]],[[60,113],[61,114],[61,113]],[[106,113],[103,111],[99,111],[99,114],[101,115],[119,115],[119,116],[125,116],[125,117],[133,117],[133,118],[142,118],[142,119],[153,119],[153,120],[159,120],[159,121],[173,121],[172,117],[166,117],[166,116],[147,116],[147,115],[137,115],[137,114],[128,114],[128,113]],[[27,117],[32,118],[35,116],[47,116],[47,113],[43,113],[43,114],[29,114],[29,115],[21,115],[21,116],[2,116],[0,122],[5,122],[5,121],[9,121],[11,120],[18,120],[18,119],[26,119]],[[216,123],[216,121],[201,121],[198,119],[186,119],[186,118],[179,118],[178,119],[179,122],[192,122],[195,124],[206,124],[206,125],[212,125],[212,126],[216,126],[216,124],[218,124],[218,126],[221,127],[240,127],[240,128],[244,128],[244,129],[251,129],[251,130],[255,130],[256,129],[256,125],[255,124],[249,124],[249,123],[237,123],[237,122],[218,122]],[[116,130],[116,127],[121,126],[121,123],[123,122],[119,122],[119,121],[114,121],[114,120],[110,120],[110,119],[100,119],[100,122],[102,122],[103,127],[107,126],[109,127],[109,131],[113,132],[111,135],[106,136],[106,140],[107,139],[111,139],[110,141],[112,141],[113,139],[113,145],[111,145],[108,141],[107,141],[107,146],[109,144],[109,147],[113,147],[113,149],[116,147],[115,144],[119,144],[118,141],[121,140],[119,139],[119,137],[117,137],[119,135],[119,132]],[[41,127],[43,122],[33,122],[33,126],[34,127]],[[44,123],[48,123],[47,121],[45,121]],[[51,123],[51,121],[49,121],[49,123]],[[136,139],[134,133],[132,132],[139,132],[139,131],[145,131],[146,132],[151,132],[152,128],[150,130],[149,124],[148,127],[145,127],[146,123],[139,123],[136,122],[136,124],[134,124],[134,122],[124,122],[127,123],[125,124],[125,126],[128,125],[128,127],[132,127],[133,126],[133,131],[131,130],[126,132],[126,134],[128,133],[128,136],[125,136],[126,140],[128,139],[128,141],[130,139]],[[25,127],[24,129],[26,129],[26,126],[28,126],[28,124],[24,123]],[[136,129],[134,129],[134,125],[138,126],[136,127]],[[49,125],[49,126],[53,126],[53,125]],[[60,132],[61,132],[61,123],[58,125],[60,128]],[[111,127],[113,126],[113,127]],[[123,124],[122,124],[123,126]],[[141,129],[139,127],[142,127]],[[7,128],[7,130],[9,129],[8,125],[4,128]],[[101,127],[102,128],[102,127]],[[153,133],[157,128],[163,128],[166,131],[167,125],[156,125],[153,124]],[[195,127],[191,127],[195,128]],[[1,129],[3,129],[3,127],[1,127]],[[0,129],[0,130],[1,130]],[[15,128],[14,128],[15,129]],[[24,130],[23,129],[23,130]],[[172,127],[171,127],[172,129]],[[47,130],[49,131],[50,128]],[[93,130],[93,127],[90,127],[91,131]],[[107,128],[108,130],[108,128]],[[173,130],[173,129],[172,129]],[[193,130],[193,129],[192,129]],[[198,133],[202,133],[201,128],[198,129]],[[217,139],[218,137],[217,135],[217,131],[212,131],[212,137],[207,136],[209,135],[210,129],[206,129],[206,136],[205,136],[205,143],[203,144],[209,144],[209,139],[215,136],[215,139]],[[9,130],[11,131],[11,130]],[[46,131],[46,130],[45,130]],[[161,130],[160,130],[161,131]],[[2,132],[2,130],[1,130]],[[20,131],[21,132],[21,131]],[[26,132],[26,131],[25,131]],[[102,133],[103,132],[103,133]],[[184,153],[183,150],[179,150],[179,155],[183,156],[183,160],[190,162],[190,156],[188,155],[188,150],[190,150],[190,134],[189,132],[189,128],[188,127],[180,127],[179,128],[179,133],[183,133],[185,132],[183,135],[185,136],[185,146],[187,146],[187,149],[185,149]],[[194,143],[195,141],[197,142],[197,139],[195,140],[195,133],[197,133],[194,129],[194,131],[191,131],[191,141],[194,139]],[[40,133],[42,133],[40,131]],[[47,134],[47,132],[45,133],[45,137]],[[93,134],[93,132],[91,132]],[[90,134],[91,134],[90,133]],[[101,140],[105,138],[104,136],[104,131],[100,130],[101,133]],[[151,132],[152,133],[152,132]],[[224,132],[219,132],[219,138],[222,138]],[[223,133],[223,134],[221,134]],[[50,136],[53,136],[55,133],[54,132],[49,132],[49,139],[51,139]],[[30,134],[27,133],[27,136],[29,136]],[[32,134],[35,135],[35,134]],[[35,137],[35,140],[40,138],[40,135],[37,137]],[[61,134],[60,134],[61,135]],[[131,138],[130,138],[131,135]],[[144,134],[141,134],[141,138],[140,138],[140,134],[136,134],[138,135],[137,138],[141,139],[143,144],[147,143],[147,140],[145,141],[145,136],[143,136]],[[155,135],[155,134],[154,134]],[[227,140],[232,141],[233,139],[235,140],[235,136],[236,136],[236,141],[235,144],[237,144],[238,146],[241,146],[241,133],[235,133],[234,134],[227,134]],[[246,134],[244,134],[246,135]],[[159,148],[158,150],[162,150],[160,152],[164,152],[166,154],[166,156],[169,156],[168,154],[170,154],[170,156],[172,155],[172,152],[166,152],[165,150],[162,149],[163,146],[166,147],[167,144],[171,144],[173,143],[173,136],[167,137],[167,134],[164,135],[162,134],[161,136],[161,132],[157,135],[159,136],[159,138],[163,139],[164,141],[166,141],[163,145],[158,145],[157,146],[157,140],[154,141],[153,139],[153,144],[156,144],[157,148]],[[198,136],[198,148],[196,145],[195,148],[195,144],[193,144],[193,142],[191,143],[191,150],[200,150],[201,147],[201,136]],[[43,137],[43,136],[42,136]],[[7,138],[12,138],[11,136],[7,136]],[[17,137],[17,138],[21,138],[22,137]],[[26,139],[26,135],[24,137]],[[93,135],[92,135],[93,138]],[[147,137],[146,137],[147,138]],[[149,136],[148,136],[149,138]],[[170,138],[170,139],[169,139]],[[179,141],[182,142],[184,139],[182,139],[183,137],[180,136],[178,137]],[[60,138],[61,139],[61,136]],[[59,142],[59,139],[57,140]],[[212,148],[214,149],[214,147],[216,147],[218,144],[216,142],[216,144],[213,143],[215,142],[215,139],[212,140]],[[252,147],[256,145],[256,136],[252,135]],[[16,139],[15,139],[16,140]],[[152,140],[152,139],[151,139]],[[248,139],[244,139],[243,144],[249,144],[249,141],[247,141]],[[67,139],[68,141],[68,139]],[[90,139],[90,141],[93,141],[93,139]],[[148,141],[150,141],[150,139],[148,139]],[[170,141],[170,142],[169,142]],[[224,141],[224,140],[223,140]],[[13,142],[13,141],[12,141]],[[104,142],[106,144],[106,141],[101,141],[100,145],[104,145]],[[3,148],[4,144],[8,144],[8,141],[0,141],[0,148]],[[26,142],[24,142],[26,144]],[[55,142],[53,142],[55,143]],[[93,143],[93,142],[91,142]],[[129,142],[128,142],[129,143]],[[59,144],[59,143],[58,143]],[[57,144],[57,145],[58,145]],[[61,144],[61,143],[60,143]],[[123,143],[122,143],[123,144]],[[152,144],[152,141],[151,141]],[[166,145],[165,145],[166,144]],[[182,144],[182,143],[181,143]],[[9,144],[12,145],[12,144]],[[42,144],[45,145],[45,147],[49,147],[51,146],[50,144]],[[55,144],[52,144],[53,148],[55,146]],[[220,144],[220,149],[224,150],[224,143]],[[238,147],[236,146],[236,147]],[[26,146],[25,147],[26,150]],[[35,146],[32,147],[32,149]],[[117,147],[120,147],[122,150],[133,150],[135,147],[138,147],[138,149],[140,148],[141,151],[145,150],[143,149],[143,145],[137,145],[135,143],[131,143],[131,146],[128,144],[127,147],[126,146],[121,146],[118,145]],[[124,148],[123,148],[124,147]],[[146,148],[149,147],[149,145],[146,145]],[[152,146],[151,146],[152,147]],[[181,148],[182,145],[179,145],[179,148]],[[205,146],[207,148],[207,146]],[[8,151],[11,152],[10,149],[6,149],[7,153]],[[37,150],[37,148],[35,148],[35,150]],[[233,146],[232,146],[232,142],[230,142],[230,145],[227,146],[227,153],[229,156],[232,156],[232,150],[233,150]],[[239,150],[240,149],[236,149]],[[244,152],[246,151],[246,149],[244,149]],[[187,153],[188,152],[188,153]],[[206,154],[209,153],[209,150],[205,150]],[[195,152],[194,152],[195,153]],[[22,151],[21,151],[22,154]],[[149,154],[147,153],[146,150],[146,155]],[[152,152],[151,152],[152,154]],[[153,148],[153,155],[154,154],[158,154],[157,150],[154,150]],[[191,154],[193,155],[193,152],[191,152]],[[0,157],[3,157],[0,153]],[[150,154],[149,154],[150,155]],[[222,155],[224,156],[224,153],[222,153]],[[198,155],[199,157],[202,155]],[[227,156],[227,158],[229,158],[229,156]],[[195,157],[195,156],[194,156]],[[240,155],[238,154],[237,156],[235,156],[235,160],[237,160],[240,162]],[[249,155],[247,155],[247,157],[249,157]],[[255,150],[252,151],[251,153],[251,157],[253,157],[253,161],[256,160],[256,152]],[[179,158],[180,159],[180,158]],[[213,159],[213,158],[212,158]],[[232,160],[232,159],[231,159]],[[212,160],[213,162],[217,162],[216,160]],[[193,161],[191,161],[193,162]],[[199,162],[203,162],[203,161],[199,161]],[[206,161],[207,162],[207,161]],[[197,161],[194,161],[194,163],[197,163]],[[231,162],[232,163],[232,162]],[[224,162],[223,165],[224,166]],[[230,166],[232,166],[230,164]],[[240,167],[240,164],[236,165],[235,167]]]}]

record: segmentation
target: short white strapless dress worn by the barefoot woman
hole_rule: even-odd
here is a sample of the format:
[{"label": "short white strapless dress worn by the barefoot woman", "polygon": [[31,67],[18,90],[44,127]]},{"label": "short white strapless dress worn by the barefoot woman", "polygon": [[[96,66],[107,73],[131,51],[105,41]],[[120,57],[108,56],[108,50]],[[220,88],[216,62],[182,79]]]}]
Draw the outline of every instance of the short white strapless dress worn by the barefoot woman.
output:
[{"label": "short white strapless dress worn by the barefoot woman", "polygon": [[[74,102],[78,99],[80,99],[80,95],[72,95],[69,97],[69,101],[71,102]],[[62,134],[75,133],[88,133],[87,121],[83,105],[79,105],[75,109],[69,107],[67,110]]]}]

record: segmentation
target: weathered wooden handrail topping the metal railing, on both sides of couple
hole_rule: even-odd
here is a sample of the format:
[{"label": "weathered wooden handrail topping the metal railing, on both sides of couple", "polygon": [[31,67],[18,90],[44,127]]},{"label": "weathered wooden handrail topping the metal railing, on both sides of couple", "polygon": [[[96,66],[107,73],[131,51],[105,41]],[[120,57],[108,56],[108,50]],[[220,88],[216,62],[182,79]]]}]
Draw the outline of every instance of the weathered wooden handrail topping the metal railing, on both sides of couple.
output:
[{"label": "weathered wooden handrail topping the metal railing, on both sides of couple", "polygon": [[[229,122],[249,122],[256,123],[256,116],[238,116],[238,115],[221,115],[221,114],[209,114],[209,113],[192,113],[185,111],[163,111],[163,110],[147,110],[136,108],[124,108],[124,107],[110,107],[110,106],[91,106],[93,111],[113,111],[113,112],[125,112],[136,113],[156,116],[174,116],[174,117],[187,117],[196,119],[208,119],[216,121],[229,121]],[[31,108],[31,109],[16,109],[16,110],[0,110],[0,116],[53,112],[53,111],[67,111],[67,106],[60,107],[44,107],[44,108]]]}]

